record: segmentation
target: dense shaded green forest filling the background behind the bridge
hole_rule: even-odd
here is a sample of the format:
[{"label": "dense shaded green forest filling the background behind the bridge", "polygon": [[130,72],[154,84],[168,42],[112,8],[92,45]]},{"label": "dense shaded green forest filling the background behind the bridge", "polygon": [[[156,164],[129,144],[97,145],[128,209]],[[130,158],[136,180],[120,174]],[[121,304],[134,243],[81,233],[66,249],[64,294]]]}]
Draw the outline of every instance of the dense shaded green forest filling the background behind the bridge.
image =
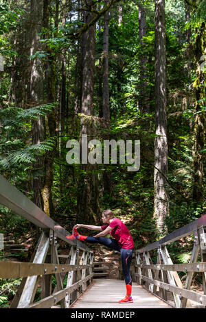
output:
[{"label": "dense shaded green forest filling the background behind the bridge", "polygon": [[[135,247],[159,238],[155,1],[10,0],[0,2],[0,14],[1,174],[69,232],[76,223],[101,224],[102,210],[111,209]],[[205,14],[205,1],[165,1],[167,233],[206,208]],[[139,171],[68,164],[67,141],[84,133],[140,140]],[[3,206],[0,227],[16,237],[39,234]]]}]

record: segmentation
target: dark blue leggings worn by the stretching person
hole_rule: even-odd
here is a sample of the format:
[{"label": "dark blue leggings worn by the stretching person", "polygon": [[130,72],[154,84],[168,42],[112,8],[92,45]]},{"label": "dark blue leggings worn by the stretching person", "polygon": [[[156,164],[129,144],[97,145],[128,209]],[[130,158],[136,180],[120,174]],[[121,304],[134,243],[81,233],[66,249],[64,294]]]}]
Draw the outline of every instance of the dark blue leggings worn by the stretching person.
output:
[{"label": "dark blue leggings worn by the stretching person", "polygon": [[130,276],[130,263],[133,256],[133,249],[124,249],[119,247],[117,240],[113,238],[87,237],[84,240],[87,241],[87,243],[101,244],[111,249],[114,249],[115,251],[119,251],[121,253],[122,269],[124,273],[125,284],[132,285],[132,278]]}]

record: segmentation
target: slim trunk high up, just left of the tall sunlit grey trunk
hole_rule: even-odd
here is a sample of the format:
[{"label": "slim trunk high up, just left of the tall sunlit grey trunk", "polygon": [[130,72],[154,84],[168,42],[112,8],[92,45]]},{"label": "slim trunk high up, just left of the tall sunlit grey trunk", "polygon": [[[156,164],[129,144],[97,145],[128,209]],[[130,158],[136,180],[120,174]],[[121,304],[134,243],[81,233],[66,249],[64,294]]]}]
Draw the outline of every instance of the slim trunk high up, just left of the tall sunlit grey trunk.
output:
[{"label": "slim trunk high up, just left of the tall sunlit grey trunk", "polygon": [[147,58],[144,53],[144,40],[143,37],[146,37],[146,14],[144,10],[144,6],[141,3],[138,4],[139,8],[139,42],[141,44],[141,55],[139,58],[139,66],[140,66],[140,75],[141,82],[139,88],[139,109],[141,113],[149,113],[150,112],[150,104],[149,104],[149,92],[148,92],[148,83],[147,83]]}]

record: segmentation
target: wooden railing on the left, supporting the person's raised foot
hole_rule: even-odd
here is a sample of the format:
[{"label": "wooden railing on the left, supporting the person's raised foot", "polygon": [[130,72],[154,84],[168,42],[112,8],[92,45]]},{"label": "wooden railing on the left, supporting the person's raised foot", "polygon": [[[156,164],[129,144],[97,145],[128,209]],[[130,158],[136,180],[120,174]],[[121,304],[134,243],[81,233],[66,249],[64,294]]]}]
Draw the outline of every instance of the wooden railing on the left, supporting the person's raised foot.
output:
[{"label": "wooden railing on the left, supporting the person's raised foot", "polygon": [[[67,230],[2,175],[0,204],[42,229],[31,262],[0,262],[0,278],[23,277],[10,308],[51,308],[59,302],[61,308],[69,308],[93,280],[93,251],[79,240],[68,240],[66,236],[71,234]],[[67,243],[67,255],[58,255],[58,238]],[[41,299],[36,298],[39,286]]]}]

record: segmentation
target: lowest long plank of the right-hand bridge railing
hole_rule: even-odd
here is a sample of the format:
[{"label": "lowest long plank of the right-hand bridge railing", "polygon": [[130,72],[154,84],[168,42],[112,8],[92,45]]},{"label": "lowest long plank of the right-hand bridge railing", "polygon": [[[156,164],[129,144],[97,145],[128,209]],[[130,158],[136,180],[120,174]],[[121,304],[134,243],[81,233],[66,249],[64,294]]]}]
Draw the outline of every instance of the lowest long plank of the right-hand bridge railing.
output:
[{"label": "lowest long plank of the right-hand bridge railing", "polygon": [[[139,274],[136,273],[136,275],[139,275]],[[194,292],[194,290],[185,290],[185,288],[179,288],[171,284],[163,283],[157,280],[152,280],[149,277],[146,277],[144,275],[141,275],[141,278],[161,288],[165,288],[165,290],[169,290],[172,293],[176,293],[179,296],[187,297],[187,299],[192,299],[192,301],[203,304],[204,306],[206,305],[206,295],[196,293]]]}]

